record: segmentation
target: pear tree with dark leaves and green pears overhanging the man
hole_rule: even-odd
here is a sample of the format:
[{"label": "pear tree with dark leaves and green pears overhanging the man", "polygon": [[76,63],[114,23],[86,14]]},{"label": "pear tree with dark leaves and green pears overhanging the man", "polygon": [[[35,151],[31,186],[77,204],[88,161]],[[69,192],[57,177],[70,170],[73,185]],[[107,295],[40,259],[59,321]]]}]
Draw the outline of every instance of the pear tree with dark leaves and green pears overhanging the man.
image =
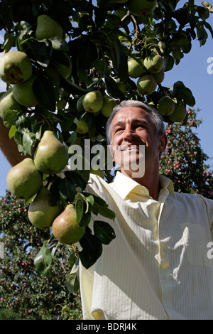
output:
[{"label": "pear tree with dark leaves and green pears overhanging the man", "polygon": [[[27,200],[33,203],[45,187],[49,201],[40,196],[38,202],[47,212],[50,206],[66,210],[72,205],[72,210],[67,210],[72,212],[68,220],[75,217],[84,231],[78,240],[82,250],[77,251],[77,257],[87,268],[101,256],[102,244],[113,242],[116,236],[113,222],[104,221],[113,221],[114,212],[102,198],[87,193],[92,166],[85,140],[89,140],[91,151],[97,145],[107,151],[105,124],[111,106],[124,99],[152,105],[168,124],[184,120],[186,109],[195,105],[195,97],[184,82],[163,85],[164,73],[179,65],[192,43],[202,46],[213,37],[208,23],[213,8],[207,1],[186,1],[182,7],[178,2],[1,1],[4,41],[0,72],[6,92],[1,92],[0,115],[9,138],[16,141],[23,158],[30,156],[39,175],[32,181],[20,181],[20,194],[31,195]],[[84,163],[74,171],[67,166],[76,145],[82,148]],[[104,160],[101,155],[99,160]],[[111,181],[107,158],[102,170],[105,180]],[[10,183],[16,183],[12,177]],[[36,189],[35,193],[30,194],[28,188]],[[48,220],[53,218],[52,211]],[[48,222],[50,229],[58,217]],[[92,218],[94,232],[89,225]]]}]

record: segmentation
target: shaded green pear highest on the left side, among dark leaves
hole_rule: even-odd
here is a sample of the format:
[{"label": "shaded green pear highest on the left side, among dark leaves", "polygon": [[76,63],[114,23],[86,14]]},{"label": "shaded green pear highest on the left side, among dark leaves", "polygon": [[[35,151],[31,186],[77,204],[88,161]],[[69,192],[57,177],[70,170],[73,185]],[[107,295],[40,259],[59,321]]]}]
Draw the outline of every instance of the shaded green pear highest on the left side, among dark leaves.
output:
[{"label": "shaded green pear highest on the left side, among dark leaves", "polygon": [[58,22],[46,14],[41,14],[37,18],[35,37],[40,41],[52,37],[63,38],[64,32]]}]

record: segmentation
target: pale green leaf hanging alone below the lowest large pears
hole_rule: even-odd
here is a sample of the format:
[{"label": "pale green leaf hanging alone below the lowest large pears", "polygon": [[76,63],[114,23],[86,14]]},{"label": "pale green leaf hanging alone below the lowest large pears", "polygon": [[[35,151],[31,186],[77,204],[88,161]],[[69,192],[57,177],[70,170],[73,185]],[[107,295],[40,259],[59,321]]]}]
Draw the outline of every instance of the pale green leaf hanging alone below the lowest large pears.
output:
[{"label": "pale green leaf hanging alone below the lowest large pears", "polygon": [[40,251],[34,259],[35,269],[42,275],[50,277],[50,266],[52,264],[52,255],[46,244],[43,244]]}]

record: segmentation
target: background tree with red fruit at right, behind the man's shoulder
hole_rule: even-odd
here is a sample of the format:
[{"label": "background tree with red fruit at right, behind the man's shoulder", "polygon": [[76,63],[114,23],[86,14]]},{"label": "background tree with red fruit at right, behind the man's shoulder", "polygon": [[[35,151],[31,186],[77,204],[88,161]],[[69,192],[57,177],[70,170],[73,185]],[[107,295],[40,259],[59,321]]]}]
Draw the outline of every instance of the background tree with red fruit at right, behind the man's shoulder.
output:
[{"label": "background tree with red fruit at right, behind the man's shoulder", "polygon": [[160,173],[173,181],[175,191],[213,199],[213,174],[206,163],[209,157],[193,131],[202,123],[197,112],[199,109],[189,109],[184,122],[167,126],[168,146],[161,156]]}]

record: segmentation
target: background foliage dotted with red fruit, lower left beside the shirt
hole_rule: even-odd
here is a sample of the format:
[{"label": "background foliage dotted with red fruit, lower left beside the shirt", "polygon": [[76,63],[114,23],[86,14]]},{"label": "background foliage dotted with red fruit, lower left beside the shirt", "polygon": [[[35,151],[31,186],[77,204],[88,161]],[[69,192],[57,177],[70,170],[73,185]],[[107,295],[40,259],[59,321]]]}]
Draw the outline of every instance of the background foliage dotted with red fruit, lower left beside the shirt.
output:
[{"label": "background foliage dotted with red fruit, lower left beside the shirt", "polygon": [[[9,191],[1,198],[0,231],[4,258],[0,259],[0,318],[80,319],[80,296],[66,288],[70,271],[67,246],[58,247],[51,263],[52,276],[35,270],[34,258],[50,230],[38,230],[28,220],[28,204]],[[52,240],[50,249],[57,244]]]}]

